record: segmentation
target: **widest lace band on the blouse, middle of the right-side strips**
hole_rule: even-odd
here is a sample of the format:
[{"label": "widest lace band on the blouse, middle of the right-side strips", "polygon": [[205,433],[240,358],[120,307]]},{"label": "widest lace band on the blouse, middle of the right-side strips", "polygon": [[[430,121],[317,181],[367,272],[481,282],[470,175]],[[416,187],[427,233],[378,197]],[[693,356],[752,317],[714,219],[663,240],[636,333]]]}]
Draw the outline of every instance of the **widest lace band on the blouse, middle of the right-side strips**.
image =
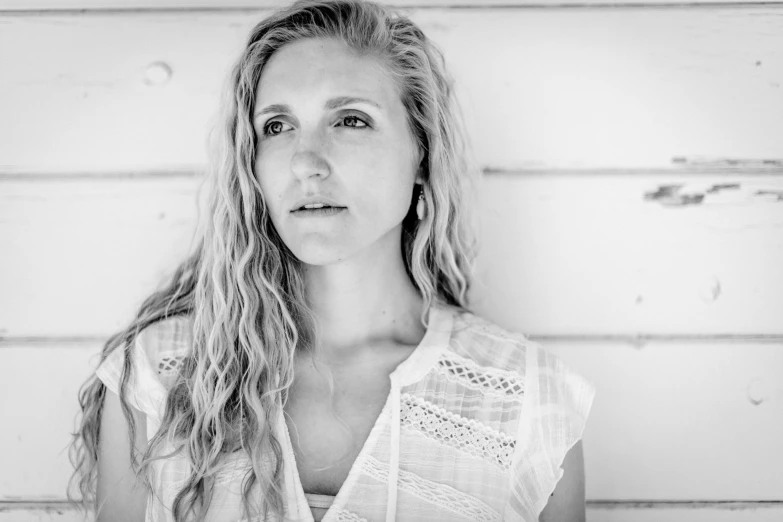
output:
[{"label": "widest lace band on the blouse, middle of the right-side strips", "polygon": [[400,423],[413,426],[435,440],[445,442],[477,457],[488,458],[501,469],[511,467],[516,439],[474,419],[466,419],[415,397],[400,396]]}]

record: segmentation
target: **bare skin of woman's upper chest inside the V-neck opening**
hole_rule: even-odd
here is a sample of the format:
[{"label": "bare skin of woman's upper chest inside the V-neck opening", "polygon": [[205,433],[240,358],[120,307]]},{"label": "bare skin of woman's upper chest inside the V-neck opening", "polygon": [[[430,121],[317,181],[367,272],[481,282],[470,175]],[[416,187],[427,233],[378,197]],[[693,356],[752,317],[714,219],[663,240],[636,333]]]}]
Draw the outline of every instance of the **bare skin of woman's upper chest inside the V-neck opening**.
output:
[{"label": "bare skin of woman's upper chest inside the V-neck opening", "polygon": [[309,359],[297,362],[285,421],[305,493],[340,491],[388,400],[389,374],[413,348],[330,366],[333,392]]}]

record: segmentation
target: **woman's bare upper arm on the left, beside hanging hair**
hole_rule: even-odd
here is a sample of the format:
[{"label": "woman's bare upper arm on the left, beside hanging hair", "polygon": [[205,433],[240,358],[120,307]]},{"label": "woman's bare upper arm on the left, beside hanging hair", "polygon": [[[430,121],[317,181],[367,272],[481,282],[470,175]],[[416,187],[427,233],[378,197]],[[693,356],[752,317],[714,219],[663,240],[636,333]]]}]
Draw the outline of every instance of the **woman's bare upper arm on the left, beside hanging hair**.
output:
[{"label": "woman's bare upper arm on the left, beside hanging hair", "polygon": [[[130,463],[128,423],[120,408],[120,398],[107,389],[101,414],[98,443],[99,510],[96,522],[144,522],[147,495]],[[147,449],[147,418],[131,406],[136,422],[136,449]]]}]

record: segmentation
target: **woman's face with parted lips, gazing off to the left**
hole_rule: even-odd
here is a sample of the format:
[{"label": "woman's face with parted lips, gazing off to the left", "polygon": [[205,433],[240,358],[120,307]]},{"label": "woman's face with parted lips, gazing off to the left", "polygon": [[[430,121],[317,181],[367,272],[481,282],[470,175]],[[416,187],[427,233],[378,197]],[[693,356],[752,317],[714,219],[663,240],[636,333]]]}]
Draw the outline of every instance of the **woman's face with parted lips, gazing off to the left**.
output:
[{"label": "woman's face with parted lips, gazing off to the left", "polygon": [[[270,58],[256,91],[254,170],[272,223],[297,258],[331,264],[373,245],[400,254],[423,157],[405,117],[380,62],[342,42],[298,40]],[[294,212],[310,196],[345,208]]]}]

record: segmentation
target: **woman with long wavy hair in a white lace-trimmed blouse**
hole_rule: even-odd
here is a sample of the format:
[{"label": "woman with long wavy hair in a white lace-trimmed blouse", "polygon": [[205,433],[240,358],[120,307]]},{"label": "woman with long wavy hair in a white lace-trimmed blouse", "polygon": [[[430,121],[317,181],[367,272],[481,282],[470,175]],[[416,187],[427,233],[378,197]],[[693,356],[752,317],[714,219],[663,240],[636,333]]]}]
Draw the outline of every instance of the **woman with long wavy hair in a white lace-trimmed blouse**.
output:
[{"label": "woman with long wavy hair in a white lace-trimmed blouse", "polygon": [[97,520],[584,520],[594,388],[467,307],[473,171],[432,42],[299,1],[227,94],[201,242],[81,391]]}]

